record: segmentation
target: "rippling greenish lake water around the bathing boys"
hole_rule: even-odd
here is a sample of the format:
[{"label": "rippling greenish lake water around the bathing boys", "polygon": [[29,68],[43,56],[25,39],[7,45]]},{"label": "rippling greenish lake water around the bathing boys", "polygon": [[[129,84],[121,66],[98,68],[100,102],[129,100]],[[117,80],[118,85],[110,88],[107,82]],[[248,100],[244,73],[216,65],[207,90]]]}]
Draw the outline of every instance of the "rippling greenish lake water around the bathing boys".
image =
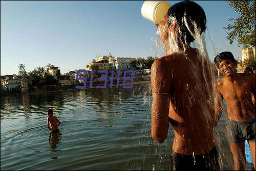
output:
[{"label": "rippling greenish lake water around the bathing boys", "polygon": [[[47,110],[61,121],[47,129]],[[225,118],[216,127],[222,169],[232,169]],[[168,170],[174,132],[151,138],[151,90],[75,89],[1,97],[1,170]]]}]

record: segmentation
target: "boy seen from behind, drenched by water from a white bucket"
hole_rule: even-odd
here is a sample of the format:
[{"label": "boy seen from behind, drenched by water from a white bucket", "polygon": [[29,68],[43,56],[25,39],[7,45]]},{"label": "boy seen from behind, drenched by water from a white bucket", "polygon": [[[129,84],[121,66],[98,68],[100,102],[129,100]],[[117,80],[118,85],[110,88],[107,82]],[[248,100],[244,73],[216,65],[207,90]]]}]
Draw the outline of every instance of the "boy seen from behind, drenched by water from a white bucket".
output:
[{"label": "boy seen from behind, drenched by water from a white bucket", "polygon": [[190,47],[206,29],[204,10],[195,2],[177,3],[157,27],[165,56],[151,68],[151,136],[164,142],[170,122],[173,170],[219,170],[210,63]]}]

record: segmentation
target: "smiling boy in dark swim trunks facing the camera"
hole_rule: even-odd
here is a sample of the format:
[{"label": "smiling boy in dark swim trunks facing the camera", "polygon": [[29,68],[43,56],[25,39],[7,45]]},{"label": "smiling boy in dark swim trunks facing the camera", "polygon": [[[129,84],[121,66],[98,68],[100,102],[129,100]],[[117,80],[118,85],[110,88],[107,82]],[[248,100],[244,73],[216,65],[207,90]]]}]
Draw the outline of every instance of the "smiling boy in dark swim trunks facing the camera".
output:
[{"label": "smiling boy in dark swim trunks facing the camera", "polygon": [[217,121],[222,114],[220,93],[227,104],[227,138],[234,159],[234,169],[245,169],[245,140],[249,141],[253,165],[255,169],[255,104],[251,93],[255,96],[255,75],[237,73],[237,61],[232,53],[222,52],[214,59],[219,71],[225,75],[215,86],[215,114]]}]

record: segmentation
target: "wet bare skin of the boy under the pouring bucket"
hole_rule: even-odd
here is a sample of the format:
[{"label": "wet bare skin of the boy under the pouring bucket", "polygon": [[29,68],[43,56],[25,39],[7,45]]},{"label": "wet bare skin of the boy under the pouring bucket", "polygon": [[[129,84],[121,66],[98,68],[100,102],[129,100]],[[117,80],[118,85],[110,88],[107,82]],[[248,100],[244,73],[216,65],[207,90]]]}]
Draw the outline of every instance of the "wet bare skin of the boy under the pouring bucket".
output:
[{"label": "wet bare skin of the boy under the pouring bucket", "polygon": [[[162,143],[168,134],[168,117],[174,129],[173,151],[185,155],[202,155],[214,148],[214,100],[208,63],[195,48],[184,54],[170,52],[167,17],[159,24],[160,41],[166,56],[151,68],[152,138]],[[203,67],[204,66],[204,67]],[[205,74],[205,77],[203,76]]]}]

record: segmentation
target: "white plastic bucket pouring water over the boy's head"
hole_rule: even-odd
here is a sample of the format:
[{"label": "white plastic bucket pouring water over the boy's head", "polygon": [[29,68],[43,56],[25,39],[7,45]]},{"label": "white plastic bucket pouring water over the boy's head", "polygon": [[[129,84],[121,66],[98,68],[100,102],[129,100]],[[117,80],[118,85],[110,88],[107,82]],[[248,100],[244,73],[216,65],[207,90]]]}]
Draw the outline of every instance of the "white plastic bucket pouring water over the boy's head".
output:
[{"label": "white plastic bucket pouring water over the boy's head", "polygon": [[159,24],[169,8],[170,4],[166,1],[145,1],[141,7],[141,15]]}]

